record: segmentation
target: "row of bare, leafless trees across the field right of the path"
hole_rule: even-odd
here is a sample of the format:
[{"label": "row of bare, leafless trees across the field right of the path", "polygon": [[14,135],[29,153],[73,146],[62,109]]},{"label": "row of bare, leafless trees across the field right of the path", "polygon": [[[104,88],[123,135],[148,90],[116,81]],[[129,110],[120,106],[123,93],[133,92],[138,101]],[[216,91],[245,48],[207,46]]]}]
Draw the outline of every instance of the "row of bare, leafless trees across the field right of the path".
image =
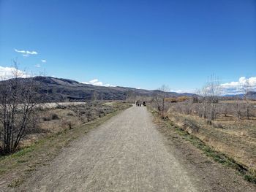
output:
[{"label": "row of bare, leafless trees across the field right of the path", "polygon": [[162,85],[162,91],[151,98],[151,104],[159,111],[162,118],[166,112],[176,111],[187,115],[198,115],[200,118],[216,120],[220,116],[233,116],[249,120],[255,116],[255,105],[249,98],[250,85],[248,79],[241,85],[244,96],[234,96],[232,100],[222,96],[223,90],[215,75],[211,75],[203,88],[195,91],[194,96],[168,98],[170,89]]}]

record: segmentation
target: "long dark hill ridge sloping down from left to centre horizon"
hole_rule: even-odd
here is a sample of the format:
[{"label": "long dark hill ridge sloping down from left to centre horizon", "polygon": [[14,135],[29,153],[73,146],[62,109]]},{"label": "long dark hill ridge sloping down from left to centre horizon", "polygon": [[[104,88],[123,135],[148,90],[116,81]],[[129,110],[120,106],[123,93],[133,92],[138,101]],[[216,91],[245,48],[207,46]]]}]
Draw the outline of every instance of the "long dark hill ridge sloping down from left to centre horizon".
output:
[{"label": "long dark hill ridge sloping down from left to centre horizon", "polygon": [[[83,84],[75,80],[55,77],[30,77],[22,79],[26,83],[30,80],[39,82],[39,93],[46,93],[48,101],[86,101],[91,99],[125,100],[129,96],[155,96],[162,91],[148,91],[144,89],[125,87],[104,87]],[[194,96],[192,93],[166,92],[168,97]]]}]

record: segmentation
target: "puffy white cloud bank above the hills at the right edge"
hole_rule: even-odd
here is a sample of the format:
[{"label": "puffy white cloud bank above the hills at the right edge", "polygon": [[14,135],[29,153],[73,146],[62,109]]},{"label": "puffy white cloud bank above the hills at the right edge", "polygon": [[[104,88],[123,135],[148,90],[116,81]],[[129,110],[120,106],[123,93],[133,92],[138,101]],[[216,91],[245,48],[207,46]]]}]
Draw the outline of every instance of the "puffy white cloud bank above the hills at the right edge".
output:
[{"label": "puffy white cloud bank above the hills at the right edge", "polygon": [[248,82],[249,91],[256,91],[256,77],[240,77],[238,81],[225,82],[220,85],[222,94],[244,93],[244,85]]}]

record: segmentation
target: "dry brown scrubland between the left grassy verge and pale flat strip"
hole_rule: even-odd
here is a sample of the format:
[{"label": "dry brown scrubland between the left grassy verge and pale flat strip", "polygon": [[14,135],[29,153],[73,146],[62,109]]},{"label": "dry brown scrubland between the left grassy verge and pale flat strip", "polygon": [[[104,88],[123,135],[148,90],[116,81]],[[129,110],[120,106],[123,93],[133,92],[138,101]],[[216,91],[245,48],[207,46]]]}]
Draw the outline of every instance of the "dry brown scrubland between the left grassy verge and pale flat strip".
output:
[{"label": "dry brown scrubland between the left grassy verge and pale flat strip", "polygon": [[116,102],[106,103],[104,101],[44,104],[38,113],[38,127],[26,134],[26,137],[20,142],[20,148],[29,147],[45,136],[102,118],[120,107],[122,105]]}]

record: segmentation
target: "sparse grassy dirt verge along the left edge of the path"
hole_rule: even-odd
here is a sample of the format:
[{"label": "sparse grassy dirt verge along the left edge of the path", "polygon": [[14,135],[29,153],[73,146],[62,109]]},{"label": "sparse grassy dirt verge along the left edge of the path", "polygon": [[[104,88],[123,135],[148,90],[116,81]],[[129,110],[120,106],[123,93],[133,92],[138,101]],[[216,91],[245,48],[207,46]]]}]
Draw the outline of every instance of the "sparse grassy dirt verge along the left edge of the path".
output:
[{"label": "sparse grassy dirt verge along the left edge of the path", "polygon": [[37,140],[34,144],[17,153],[0,157],[0,191],[17,187],[39,167],[50,164],[50,161],[59,155],[65,147],[68,147],[70,142],[86,135],[92,128],[96,128],[128,107],[128,104],[118,104],[116,110],[101,118],[91,120],[80,126],[74,126],[71,129],[66,128]]}]

